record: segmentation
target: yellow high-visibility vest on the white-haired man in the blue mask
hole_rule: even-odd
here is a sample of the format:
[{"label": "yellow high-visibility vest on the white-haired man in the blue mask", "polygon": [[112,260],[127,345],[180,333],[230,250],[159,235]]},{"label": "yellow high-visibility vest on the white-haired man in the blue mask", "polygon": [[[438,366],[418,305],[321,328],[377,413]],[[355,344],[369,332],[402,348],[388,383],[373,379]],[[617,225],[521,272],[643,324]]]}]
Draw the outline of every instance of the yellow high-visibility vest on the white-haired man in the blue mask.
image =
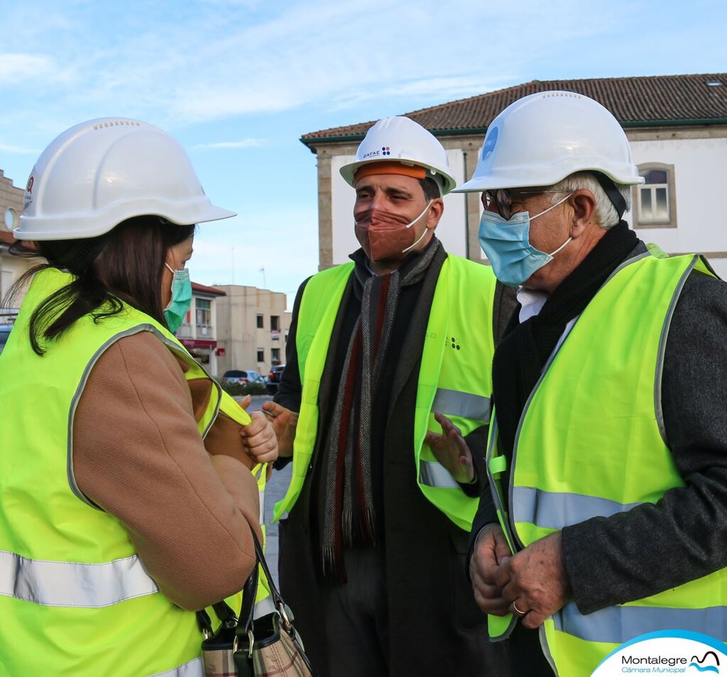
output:
[{"label": "yellow high-visibility vest on the white-haired man in the blue mask", "polygon": [[[710,274],[696,256],[626,262],[550,357],[515,435],[507,517],[515,546],[656,503],[683,486],[665,442],[661,377],[671,317],[695,268]],[[541,641],[559,674],[585,675],[616,646],[651,631],[724,641],[726,607],[721,569],[588,615],[571,602],[545,621]]]}]

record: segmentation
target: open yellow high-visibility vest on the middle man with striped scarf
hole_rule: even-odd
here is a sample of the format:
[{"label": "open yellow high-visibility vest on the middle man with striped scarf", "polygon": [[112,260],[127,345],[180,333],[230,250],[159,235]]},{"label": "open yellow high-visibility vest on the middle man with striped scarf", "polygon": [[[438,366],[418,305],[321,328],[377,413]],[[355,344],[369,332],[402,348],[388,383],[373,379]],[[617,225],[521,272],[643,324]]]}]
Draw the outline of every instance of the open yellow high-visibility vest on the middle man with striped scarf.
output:
[{"label": "open yellow high-visibility vest on the middle man with striped scarf", "polygon": [[[318,434],[318,388],[333,326],[353,264],[327,269],[308,280],[297,317],[296,349],[302,383],[294,440],[292,480],[273,519],[289,511],[300,495]],[[454,524],[470,530],[477,498],[437,461],[425,443],[427,431],[441,432],[434,413],[446,415],[463,435],[489,424],[492,306],[496,280],[491,268],[447,256],[439,272],[425,332],[414,412],[414,461],[427,500]]]}]

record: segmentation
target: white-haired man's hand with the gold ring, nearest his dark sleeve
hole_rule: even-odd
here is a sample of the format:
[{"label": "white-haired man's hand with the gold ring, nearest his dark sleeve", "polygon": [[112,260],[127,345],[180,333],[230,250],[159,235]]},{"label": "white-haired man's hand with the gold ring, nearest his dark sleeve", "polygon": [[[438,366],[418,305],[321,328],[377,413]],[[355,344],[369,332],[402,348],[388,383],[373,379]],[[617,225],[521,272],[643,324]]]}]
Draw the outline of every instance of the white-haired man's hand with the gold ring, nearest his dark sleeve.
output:
[{"label": "white-haired man's hand with the gold ring, nearest his dark sleeve", "polygon": [[538,628],[566,604],[571,589],[563,564],[561,532],[531,543],[505,558],[495,576],[510,609],[526,628]]}]

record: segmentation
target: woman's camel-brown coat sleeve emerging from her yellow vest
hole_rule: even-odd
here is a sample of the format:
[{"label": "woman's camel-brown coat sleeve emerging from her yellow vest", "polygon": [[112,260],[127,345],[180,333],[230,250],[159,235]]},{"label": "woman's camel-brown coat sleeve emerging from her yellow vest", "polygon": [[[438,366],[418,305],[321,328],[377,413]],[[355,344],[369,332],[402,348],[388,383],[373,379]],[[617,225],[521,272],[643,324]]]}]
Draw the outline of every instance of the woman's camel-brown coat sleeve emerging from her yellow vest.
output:
[{"label": "woman's camel-brown coat sleeve emerging from her yellow vest", "polygon": [[260,525],[239,426],[220,415],[201,438],[210,384],[188,384],[185,368],[148,332],[110,346],[81,395],[72,453],[79,490],[124,524],[161,592],[196,610],[241,590],[255,562],[248,524]]}]

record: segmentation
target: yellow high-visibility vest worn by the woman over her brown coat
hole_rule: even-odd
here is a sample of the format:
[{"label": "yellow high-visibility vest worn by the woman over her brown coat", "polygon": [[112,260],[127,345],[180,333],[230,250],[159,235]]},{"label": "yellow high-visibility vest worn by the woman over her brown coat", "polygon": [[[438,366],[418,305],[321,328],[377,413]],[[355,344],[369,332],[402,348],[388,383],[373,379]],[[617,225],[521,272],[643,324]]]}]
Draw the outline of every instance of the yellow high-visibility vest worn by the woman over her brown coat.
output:
[{"label": "yellow high-visibility vest worn by the woman over her brown coat", "polygon": [[[90,371],[124,336],[149,331],[185,361],[188,380],[212,379],[166,328],[126,305],[99,323],[81,317],[42,357],[33,352],[33,310],[71,279],[52,268],[36,275],[0,355],[0,397],[12,413],[0,425],[0,674],[201,677],[195,613],[158,591],[123,525],[80,492],[72,433]],[[250,421],[212,384],[203,437],[220,410]]]}]

